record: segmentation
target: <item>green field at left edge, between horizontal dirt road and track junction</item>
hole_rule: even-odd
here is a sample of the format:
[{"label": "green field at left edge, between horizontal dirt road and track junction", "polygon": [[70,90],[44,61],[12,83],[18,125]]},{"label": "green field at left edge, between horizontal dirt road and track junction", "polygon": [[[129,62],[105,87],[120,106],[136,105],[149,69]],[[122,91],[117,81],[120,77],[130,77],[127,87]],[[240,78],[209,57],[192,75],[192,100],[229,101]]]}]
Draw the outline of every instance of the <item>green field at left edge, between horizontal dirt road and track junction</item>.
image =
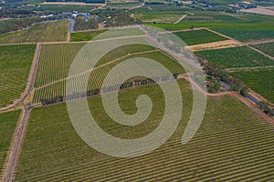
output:
[{"label": "green field at left edge, between horizontal dirt road and track junction", "polygon": [[26,87],[36,45],[0,46],[0,107],[12,104]]}]

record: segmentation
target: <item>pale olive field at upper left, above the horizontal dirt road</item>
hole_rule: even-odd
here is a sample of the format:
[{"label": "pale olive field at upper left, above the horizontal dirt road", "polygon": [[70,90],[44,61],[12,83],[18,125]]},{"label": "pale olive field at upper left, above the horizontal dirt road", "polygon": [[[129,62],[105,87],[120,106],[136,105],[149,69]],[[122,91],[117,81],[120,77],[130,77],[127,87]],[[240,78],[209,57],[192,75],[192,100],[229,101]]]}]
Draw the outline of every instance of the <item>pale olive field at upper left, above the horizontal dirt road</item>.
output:
[{"label": "pale olive field at upper left, above the horizontal dirt road", "polygon": [[66,41],[68,20],[40,23],[26,30],[0,35],[0,44]]}]

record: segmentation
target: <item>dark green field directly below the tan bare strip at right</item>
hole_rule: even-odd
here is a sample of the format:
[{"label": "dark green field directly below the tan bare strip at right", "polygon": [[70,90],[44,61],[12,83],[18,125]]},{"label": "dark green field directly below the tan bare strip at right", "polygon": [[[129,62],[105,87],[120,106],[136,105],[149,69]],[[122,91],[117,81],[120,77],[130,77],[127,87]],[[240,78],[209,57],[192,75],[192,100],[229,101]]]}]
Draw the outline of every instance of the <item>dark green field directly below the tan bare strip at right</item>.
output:
[{"label": "dark green field directly below the tan bare strip at right", "polygon": [[271,59],[260,55],[258,52],[248,48],[248,46],[197,51],[195,55],[202,56],[211,63],[225,68],[274,66],[274,62]]}]

